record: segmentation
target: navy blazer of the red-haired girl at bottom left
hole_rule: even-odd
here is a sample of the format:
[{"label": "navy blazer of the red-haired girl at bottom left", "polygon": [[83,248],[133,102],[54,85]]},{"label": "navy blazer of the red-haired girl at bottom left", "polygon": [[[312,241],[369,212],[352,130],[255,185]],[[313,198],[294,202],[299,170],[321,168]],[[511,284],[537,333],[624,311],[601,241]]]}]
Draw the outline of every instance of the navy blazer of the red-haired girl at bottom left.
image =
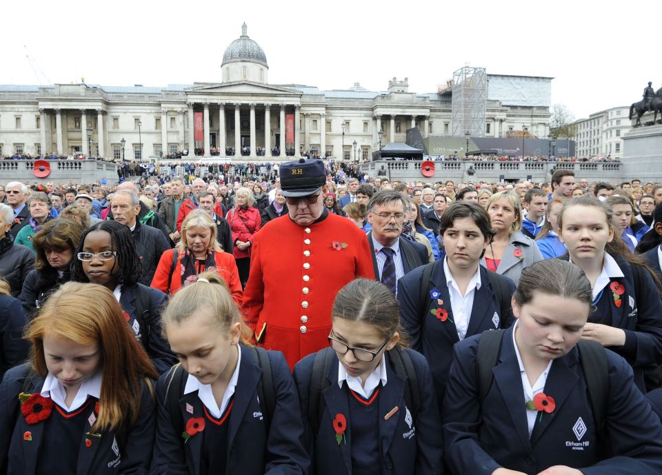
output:
[{"label": "navy blazer of the red-haired girl at bottom left", "polygon": [[[76,475],[142,475],[148,473],[154,445],[156,411],[152,394],[147,385],[143,385],[137,421],[123,436],[112,432],[101,432],[100,438],[90,438],[83,432],[75,441],[63,438],[57,441],[44,441],[43,432],[48,419],[36,424],[28,424],[19,407],[19,393],[23,392],[23,381],[29,370],[30,363],[12,368],[5,374],[0,385],[0,407],[2,407],[0,411],[0,473],[34,475],[37,465],[39,465],[39,454],[45,450],[58,451],[58,447],[63,444],[80,446]],[[33,383],[29,385],[26,392],[34,394],[41,391],[43,378],[37,376]],[[94,405],[92,404],[91,407],[93,410]],[[55,410],[54,407],[53,410]],[[89,432],[91,428],[92,425],[89,422],[86,423],[86,432]],[[32,433],[31,441],[23,439],[23,434],[28,431]],[[86,438],[92,441],[90,447],[86,447]],[[121,441],[126,442],[122,444]],[[118,452],[115,452],[116,450]],[[57,471],[57,468],[54,470]]]}]

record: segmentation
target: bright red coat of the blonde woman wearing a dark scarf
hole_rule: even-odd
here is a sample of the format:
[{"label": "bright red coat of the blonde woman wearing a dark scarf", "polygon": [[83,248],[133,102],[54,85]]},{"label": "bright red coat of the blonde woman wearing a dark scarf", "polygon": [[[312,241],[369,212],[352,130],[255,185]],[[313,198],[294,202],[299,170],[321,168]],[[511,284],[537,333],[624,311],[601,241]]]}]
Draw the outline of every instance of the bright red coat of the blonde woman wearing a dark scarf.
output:
[{"label": "bright red coat of the blonde woman wearing a dark scarf", "polygon": [[[168,276],[170,276],[170,270],[172,269],[173,252],[174,250],[169,249],[161,254],[159,265],[157,265],[157,271],[154,272],[154,277],[150,284],[155,289],[159,289],[166,294],[170,293],[170,295],[174,295],[181,288],[181,272],[178,272],[181,268],[181,252],[179,251],[177,252],[177,264],[174,267],[174,272],[172,272],[172,278],[170,279],[170,282],[168,282]],[[237,263],[234,262],[234,257],[227,252],[214,252],[214,257],[216,259],[216,273],[223,277],[225,283],[228,284],[228,289],[230,289],[234,303],[236,303],[238,307],[241,307],[243,292],[241,290],[239,271],[237,270]]]}]

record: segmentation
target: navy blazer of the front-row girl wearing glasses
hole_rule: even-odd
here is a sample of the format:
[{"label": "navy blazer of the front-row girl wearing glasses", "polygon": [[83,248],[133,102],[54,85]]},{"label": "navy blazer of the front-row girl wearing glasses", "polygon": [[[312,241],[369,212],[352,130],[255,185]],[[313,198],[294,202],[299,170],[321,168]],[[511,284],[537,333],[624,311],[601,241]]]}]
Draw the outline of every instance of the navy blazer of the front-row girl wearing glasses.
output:
[{"label": "navy blazer of the front-row girl wearing glasses", "polygon": [[[332,352],[331,348],[325,348],[322,352]],[[419,391],[421,393],[421,407],[418,411],[411,410],[410,414],[414,416],[413,423],[407,422],[405,410],[405,380],[395,374],[389,361],[388,354],[384,357],[386,361],[387,383],[379,390],[378,414],[379,428],[375,436],[379,437],[379,447],[381,447],[381,467],[374,467],[376,474],[390,475],[427,475],[441,474],[443,466],[441,465],[441,419],[437,408],[437,397],[432,387],[432,377],[430,368],[425,358],[413,350],[403,350],[408,352],[412,358],[414,370],[419,381]],[[299,390],[299,399],[301,400],[301,417],[308,421],[308,405],[310,405],[310,380],[312,378],[312,366],[314,363],[314,354],[303,358],[294,366],[294,381]],[[326,410],[323,418],[319,421],[319,432],[312,433],[312,427],[307,422],[305,441],[308,453],[312,458],[312,467],[310,474],[315,475],[351,475],[352,474],[352,421],[349,414],[349,392],[338,385],[338,365],[339,361],[331,364],[329,372],[326,375],[331,383],[329,387],[323,390],[321,397],[326,403]],[[312,401],[317,404],[316,401]],[[382,415],[388,414],[394,407],[398,407],[398,412],[393,417],[385,418]],[[347,419],[347,429],[345,430],[346,443],[338,444],[335,438],[336,432],[332,426],[336,414],[343,414]],[[413,436],[412,429],[414,430]],[[339,463],[342,460],[343,463]]]}]

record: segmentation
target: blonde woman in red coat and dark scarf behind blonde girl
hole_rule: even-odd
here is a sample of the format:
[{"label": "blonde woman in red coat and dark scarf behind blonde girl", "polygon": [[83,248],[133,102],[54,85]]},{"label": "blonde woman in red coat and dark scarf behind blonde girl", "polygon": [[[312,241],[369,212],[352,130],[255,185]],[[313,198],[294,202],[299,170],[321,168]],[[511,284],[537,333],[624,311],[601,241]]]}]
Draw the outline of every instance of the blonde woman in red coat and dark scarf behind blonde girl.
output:
[{"label": "blonde woman in red coat and dark scarf behind blonde girl", "polygon": [[203,210],[190,212],[181,225],[181,241],[175,249],[161,255],[154,272],[152,287],[166,294],[174,294],[181,287],[198,280],[198,274],[214,270],[223,277],[232,299],[241,306],[243,290],[239,281],[237,264],[216,241],[217,227]]}]

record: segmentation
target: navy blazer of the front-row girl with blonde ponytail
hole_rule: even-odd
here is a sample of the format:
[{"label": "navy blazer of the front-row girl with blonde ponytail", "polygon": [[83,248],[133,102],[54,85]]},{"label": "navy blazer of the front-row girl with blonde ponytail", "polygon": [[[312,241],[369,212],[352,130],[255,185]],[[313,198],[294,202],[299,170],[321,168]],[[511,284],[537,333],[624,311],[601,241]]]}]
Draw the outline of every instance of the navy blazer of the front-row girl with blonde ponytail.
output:
[{"label": "navy blazer of the front-row girl with blonde ponytail", "polygon": [[[219,447],[229,452],[226,474],[300,475],[308,469],[310,461],[301,445],[303,423],[299,417],[299,398],[290,367],[281,352],[269,351],[268,355],[276,396],[269,427],[265,424],[257,396],[262,370],[252,352],[241,352],[239,381],[234,388],[234,406],[230,412],[228,446]],[[174,426],[170,416],[170,397],[176,395],[179,399],[184,424],[190,418],[204,417],[204,405],[197,391],[181,394],[183,387],[170,387],[168,392],[173,374],[174,368],[161,375],[157,383],[158,429],[151,473],[199,475],[203,437],[192,436],[184,443],[181,434],[185,427]],[[185,381],[188,373],[184,372],[183,377]]]}]

